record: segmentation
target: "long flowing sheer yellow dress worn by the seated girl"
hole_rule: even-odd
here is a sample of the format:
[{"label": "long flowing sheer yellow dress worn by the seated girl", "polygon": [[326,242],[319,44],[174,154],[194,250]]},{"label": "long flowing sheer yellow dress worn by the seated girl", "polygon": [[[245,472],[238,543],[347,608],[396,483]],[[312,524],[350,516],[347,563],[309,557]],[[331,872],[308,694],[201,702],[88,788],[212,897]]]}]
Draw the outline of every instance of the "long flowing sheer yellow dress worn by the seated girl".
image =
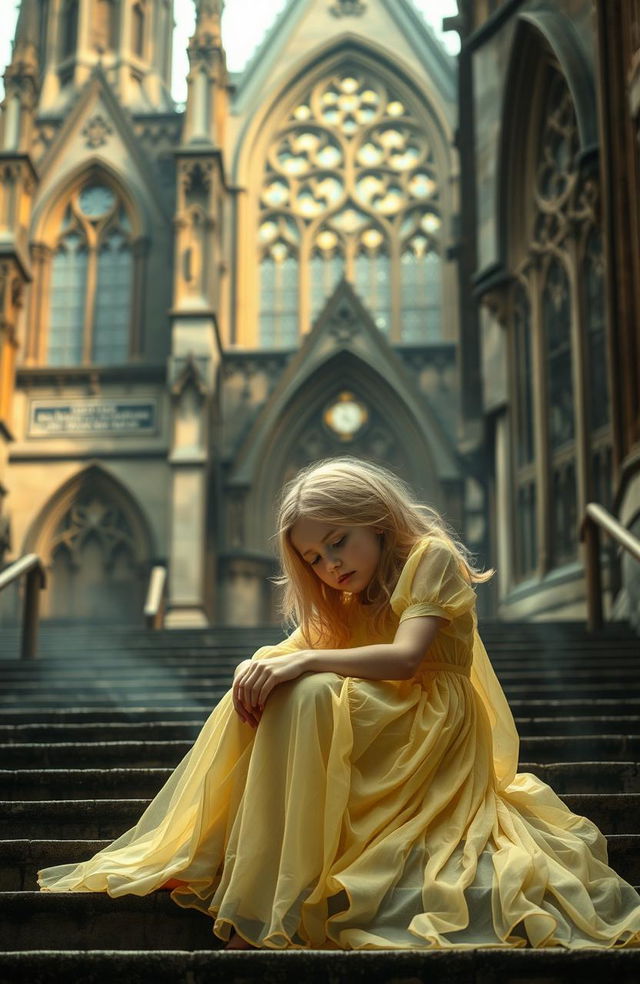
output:
[{"label": "long flowing sheer yellow dress worn by the seated girl", "polygon": [[[449,547],[421,539],[393,625],[443,627],[411,680],[308,673],[275,689],[254,731],[230,692],[138,824],[42,890],[172,898],[272,948],[640,945],[640,896],[604,836],[535,776]],[[385,641],[366,607],[350,645]],[[304,648],[296,630],[253,656]]]}]

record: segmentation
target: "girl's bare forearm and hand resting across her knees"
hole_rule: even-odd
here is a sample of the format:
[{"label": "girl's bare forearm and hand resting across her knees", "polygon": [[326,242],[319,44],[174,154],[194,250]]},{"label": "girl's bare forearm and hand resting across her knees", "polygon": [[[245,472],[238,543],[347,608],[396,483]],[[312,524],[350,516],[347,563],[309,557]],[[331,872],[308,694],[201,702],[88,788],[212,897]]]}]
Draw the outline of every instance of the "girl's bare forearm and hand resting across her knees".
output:
[{"label": "girl's bare forearm and hand resting across her knees", "polygon": [[240,705],[252,716],[256,709],[261,713],[274,687],[295,680],[303,673],[330,672],[366,680],[408,680],[446,622],[447,619],[434,615],[421,615],[401,622],[393,642],[354,649],[301,649],[268,660],[256,660],[234,679],[236,709]]}]

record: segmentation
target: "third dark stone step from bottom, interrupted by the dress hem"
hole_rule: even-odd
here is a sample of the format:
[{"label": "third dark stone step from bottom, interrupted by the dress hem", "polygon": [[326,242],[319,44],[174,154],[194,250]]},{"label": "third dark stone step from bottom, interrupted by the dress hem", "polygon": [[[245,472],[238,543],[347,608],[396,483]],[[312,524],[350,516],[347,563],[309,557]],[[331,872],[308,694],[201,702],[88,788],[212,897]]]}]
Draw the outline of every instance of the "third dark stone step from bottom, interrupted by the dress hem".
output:
[{"label": "third dark stone step from bottom, interrupted by the dress hem", "polygon": [[[37,892],[36,872],[40,868],[84,861],[110,843],[110,840],[0,840],[0,892]],[[607,846],[611,867],[632,885],[639,882],[640,834],[612,834],[607,838]],[[1,917],[0,905],[0,922]],[[0,930],[0,939],[1,933]]]}]

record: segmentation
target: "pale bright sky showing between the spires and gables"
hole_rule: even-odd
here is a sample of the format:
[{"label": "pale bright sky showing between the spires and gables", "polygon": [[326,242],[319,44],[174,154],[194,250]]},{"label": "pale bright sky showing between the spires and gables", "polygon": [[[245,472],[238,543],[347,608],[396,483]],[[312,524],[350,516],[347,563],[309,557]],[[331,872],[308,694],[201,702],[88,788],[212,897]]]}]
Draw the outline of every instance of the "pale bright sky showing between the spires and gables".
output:
[{"label": "pale bright sky showing between the spires and gables", "polygon": [[[287,0],[260,0],[259,3],[256,0],[227,0],[222,18],[222,36],[227,51],[227,64],[232,72],[239,72],[244,68],[286,2]],[[451,54],[456,54],[460,47],[458,35],[454,31],[447,34],[441,31],[442,18],[452,17],[457,13],[456,0],[413,0],[413,3],[434,28],[445,48]],[[0,66],[3,71],[11,58],[11,39],[18,7],[19,0],[0,0],[0,10],[8,13],[6,30],[2,32],[0,41]],[[188,0],[177,0],[174,16],[176,27],[173,38],[172,92],[177,102],[183,102],[186,98],[185,77],[188,69],[186,47],[194,24],[193,4]],[[0,96],[3,93],[4,86],[0,80]]]}]

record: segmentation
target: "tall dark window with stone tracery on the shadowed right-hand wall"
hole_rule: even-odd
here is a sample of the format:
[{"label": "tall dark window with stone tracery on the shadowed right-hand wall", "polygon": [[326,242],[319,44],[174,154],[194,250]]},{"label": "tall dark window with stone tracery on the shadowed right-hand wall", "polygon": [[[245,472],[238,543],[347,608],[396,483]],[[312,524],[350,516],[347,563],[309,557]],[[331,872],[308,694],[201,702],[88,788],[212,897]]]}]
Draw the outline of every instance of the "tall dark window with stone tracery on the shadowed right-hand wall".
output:
[{"label": "tall dark window with stone tracery on the shadowed right-hand wall", "polygon": [[[513,405],[514,559],[518,579],[531,576],[540,563],[543,568],[553,568],[576,558],[581,467],[576,434],[580,414],[591,418],[586,425],[593,441],[586,485],[592,487],[592,494],[600,494],[599,501],[606,501],[602,492],[610,485],[598,184],[588,170],[581,171],[577,165],[578,124],[566,80],[556,67],[550,66],[548,71],[530,192],[527,236],[531,238],[524,239],[526,253],[516,271],[511,305],[513,378],[517,381]],[[583,270],[579,275],[586,285],[582,293],[572,285],[572,267]],[[582,341],[573,332],[576,317],[591,326]],[[537,360],[533,358],[536,348]],[[587,393],[592,388],[598,391],[599,412],[592,409],[589,413],[581,407],[575,389],[576,364],[584,364],[590,377]],[[532,381],[534,371],[537,383]],[[532,400],[527,395],[532,388],[545,393],[539,418],[544,419],[544,427],[538,425],[535,434]],[[548,461],[545,483],[539,474],[540,455]],[[545,541],[542,552],[538,542],[541,536]]]}]

